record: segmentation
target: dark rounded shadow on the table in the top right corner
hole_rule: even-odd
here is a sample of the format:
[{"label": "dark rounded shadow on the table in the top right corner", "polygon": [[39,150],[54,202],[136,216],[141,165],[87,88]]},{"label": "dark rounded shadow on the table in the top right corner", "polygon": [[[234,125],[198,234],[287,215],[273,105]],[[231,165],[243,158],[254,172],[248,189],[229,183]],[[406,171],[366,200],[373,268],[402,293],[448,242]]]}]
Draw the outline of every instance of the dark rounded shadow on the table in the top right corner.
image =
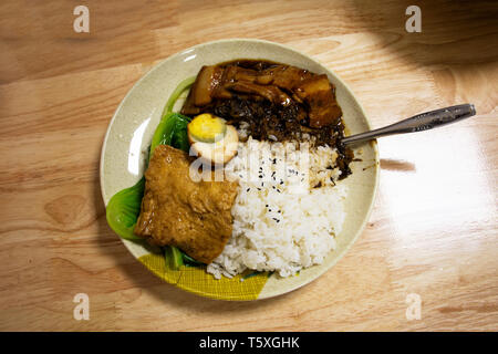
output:
[{"label": "dark rounded shadow on the table in the top right corner", "polygon": [[[465,65],[498,60],[498,3],[494,0],[355,1],[355,25],[385,49],[419,65]],[[408,6],[421,8],[422,32],[408,33]],[[352,14],[353,15],[353,14]]]}]

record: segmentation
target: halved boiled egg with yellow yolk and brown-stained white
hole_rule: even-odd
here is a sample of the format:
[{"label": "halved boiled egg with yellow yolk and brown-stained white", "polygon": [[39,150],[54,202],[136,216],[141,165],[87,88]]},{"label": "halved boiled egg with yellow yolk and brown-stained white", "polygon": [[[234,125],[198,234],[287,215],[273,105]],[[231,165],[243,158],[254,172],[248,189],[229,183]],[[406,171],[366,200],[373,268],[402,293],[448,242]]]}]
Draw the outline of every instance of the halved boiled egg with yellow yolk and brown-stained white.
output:
[{"label": "halved boiled egg with yellow yolk and brown-stained white", "polygon": [[194,117],[187,126],[187,134],[190,147],[208,163],[226,164],[237,154],[237,129],[212,114]]}]

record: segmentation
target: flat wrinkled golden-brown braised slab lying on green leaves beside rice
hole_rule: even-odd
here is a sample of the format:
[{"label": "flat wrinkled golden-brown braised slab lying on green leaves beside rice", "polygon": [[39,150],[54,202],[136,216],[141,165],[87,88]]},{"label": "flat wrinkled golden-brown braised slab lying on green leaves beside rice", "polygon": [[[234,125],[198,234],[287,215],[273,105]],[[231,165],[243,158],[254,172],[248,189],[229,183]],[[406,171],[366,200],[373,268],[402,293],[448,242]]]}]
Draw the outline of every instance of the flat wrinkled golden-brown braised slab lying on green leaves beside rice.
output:
[{"label": "flat wrinkled golden-brown braised slab lying on green leaves beside rice", "polygon": [[188,154],[168,145],[154,150],[145,171],[145,192],[134,232],[157,246],[176,246],[206,264],[231,237],[231,207],[238,185],[194,181]]}]

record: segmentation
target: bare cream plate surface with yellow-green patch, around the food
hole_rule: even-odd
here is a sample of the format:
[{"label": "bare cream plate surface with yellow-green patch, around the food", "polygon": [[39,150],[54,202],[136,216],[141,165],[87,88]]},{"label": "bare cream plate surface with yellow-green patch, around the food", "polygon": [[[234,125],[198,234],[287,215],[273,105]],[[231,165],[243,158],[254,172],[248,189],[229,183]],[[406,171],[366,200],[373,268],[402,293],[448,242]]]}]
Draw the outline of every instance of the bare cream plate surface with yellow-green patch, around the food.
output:
[{"label": "bare cream plate surface with yellow-green patch, around the food", "polygon": [[[303,53],[278,43],[249,39],[199,44],[154,66],[132,87],[117,107],[108,125],[101,154],[100,177],[105,205],[114,194],[135,185],[142,178],[152,136],[168,97],[178,84],[197,75],[203,65],[236,59],[269,60],[326,74],[336,87],[338,102],[343,111],[349,135],[371,129],[362,106],[347,85],[333,71]],[[322,264],[301,270],[299,275],[280,278],[277,274],[261,273],[243,279],[242,274],[232,280],[219,281],[210,274],[201,274],[200,272],[205,272],[203,268],[181,267],[172,272],[160,260],[163,258],[156,257],[153,248],[141,242],[122,241],[131,253],[156,275],[199,295],[219,300],[257,300],[287,293],[331,269],[362,233],[378,184],[376,142],[356,148],[355,157],[361,160],[351,164],[353,174],[342,181],[347,186],[349,192],[345,201],[346,217],[342,232],[336,236],[336,249]],[[181,279],[186,281],[180,281]]]}]

